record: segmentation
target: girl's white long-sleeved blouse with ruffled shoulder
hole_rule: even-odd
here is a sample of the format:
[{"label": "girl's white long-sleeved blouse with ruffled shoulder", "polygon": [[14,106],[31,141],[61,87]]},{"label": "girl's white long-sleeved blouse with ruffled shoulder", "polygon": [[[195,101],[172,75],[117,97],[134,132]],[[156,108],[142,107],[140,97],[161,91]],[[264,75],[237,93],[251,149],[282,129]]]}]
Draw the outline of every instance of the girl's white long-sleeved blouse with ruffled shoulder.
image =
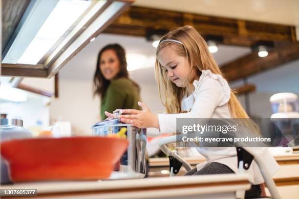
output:
[{"label": "girl's white long-sleeved blouse with ruffled shoulder", "polygon": [[[232,118],[228,106],[231,89],[222,76],[216,75],[210,70],[203,70],[199,80],[194,80],[193,85],[195,89],[192,95],[185,96],[181,102],[182,110],[189,111],[188,113],[158,114],[160,133],[176,132],[177,118]],[[219,162],[238,173],[236,149],[234,147],[198,147],[196,149],[207,159],[206,162],[196,165],[197,170],[210,162]],[[259,156],[263,157],[270,174],[274,175],[279,166],[268,149],[253,149]],[[248,172],[251,174],[250,181],[253,184],[264,182],[255,161],[251,164]]]}]

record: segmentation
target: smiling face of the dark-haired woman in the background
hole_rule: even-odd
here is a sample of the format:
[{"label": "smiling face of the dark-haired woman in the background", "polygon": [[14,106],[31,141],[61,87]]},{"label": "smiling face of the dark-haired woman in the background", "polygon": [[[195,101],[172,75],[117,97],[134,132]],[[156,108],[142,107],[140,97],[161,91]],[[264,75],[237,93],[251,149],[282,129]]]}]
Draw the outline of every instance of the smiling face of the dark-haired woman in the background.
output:
[{"label": "smiling face of the dark-haired woman in the background", "polygon": [[106,80],[114,79],[120,71],[120,62],[114,50],[105,50],[100,58],[100,70]]}]

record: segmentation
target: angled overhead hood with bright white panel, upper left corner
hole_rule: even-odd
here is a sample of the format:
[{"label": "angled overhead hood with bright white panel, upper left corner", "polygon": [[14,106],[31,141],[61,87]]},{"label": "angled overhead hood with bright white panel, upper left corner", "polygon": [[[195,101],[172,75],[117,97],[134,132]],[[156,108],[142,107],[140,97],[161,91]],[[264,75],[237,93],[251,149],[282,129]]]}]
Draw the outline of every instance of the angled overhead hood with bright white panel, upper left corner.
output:
[{"label": "angled overhead hood with bright white panel, upper left corner", "polygon": [[53,77],[134,0],[2,0],[2,76]]}]

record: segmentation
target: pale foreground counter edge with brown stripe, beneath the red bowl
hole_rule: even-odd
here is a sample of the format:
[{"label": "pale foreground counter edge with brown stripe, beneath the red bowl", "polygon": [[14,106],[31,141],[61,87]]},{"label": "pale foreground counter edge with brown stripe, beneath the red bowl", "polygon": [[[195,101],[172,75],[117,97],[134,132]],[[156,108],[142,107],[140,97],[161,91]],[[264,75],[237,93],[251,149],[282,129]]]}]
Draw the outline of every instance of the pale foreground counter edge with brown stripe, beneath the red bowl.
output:
[{"label": "pale foreground counter edge with brown stripe, beneath the red bowl", "polygon": [[250,183],[246,174],[224,174],[106,181],[32,182],[0,188],[37,189],[38,196],[24,197],[26,199],[233,199],[235,191],[248,190]]}]

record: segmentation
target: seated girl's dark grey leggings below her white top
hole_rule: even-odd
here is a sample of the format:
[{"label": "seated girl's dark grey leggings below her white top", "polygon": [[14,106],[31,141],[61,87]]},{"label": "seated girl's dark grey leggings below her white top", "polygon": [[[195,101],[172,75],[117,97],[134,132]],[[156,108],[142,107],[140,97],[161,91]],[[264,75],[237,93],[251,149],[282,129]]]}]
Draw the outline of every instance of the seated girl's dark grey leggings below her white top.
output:
[{"label": "seated girl's dark grey leggings below her white top", "polygon": [[[234,174],[235,172],[230,169],[230,167],[220,164],[218,162],[212,162],[202,169],[197,171],[196,168],[188,171],[185,176],[193,176],[193,175],[210,175],[210,174]],[[251,185],[251,189],[245,192],[245,198],[253,198],[261,195],[261,189],[259,184]]]}]

